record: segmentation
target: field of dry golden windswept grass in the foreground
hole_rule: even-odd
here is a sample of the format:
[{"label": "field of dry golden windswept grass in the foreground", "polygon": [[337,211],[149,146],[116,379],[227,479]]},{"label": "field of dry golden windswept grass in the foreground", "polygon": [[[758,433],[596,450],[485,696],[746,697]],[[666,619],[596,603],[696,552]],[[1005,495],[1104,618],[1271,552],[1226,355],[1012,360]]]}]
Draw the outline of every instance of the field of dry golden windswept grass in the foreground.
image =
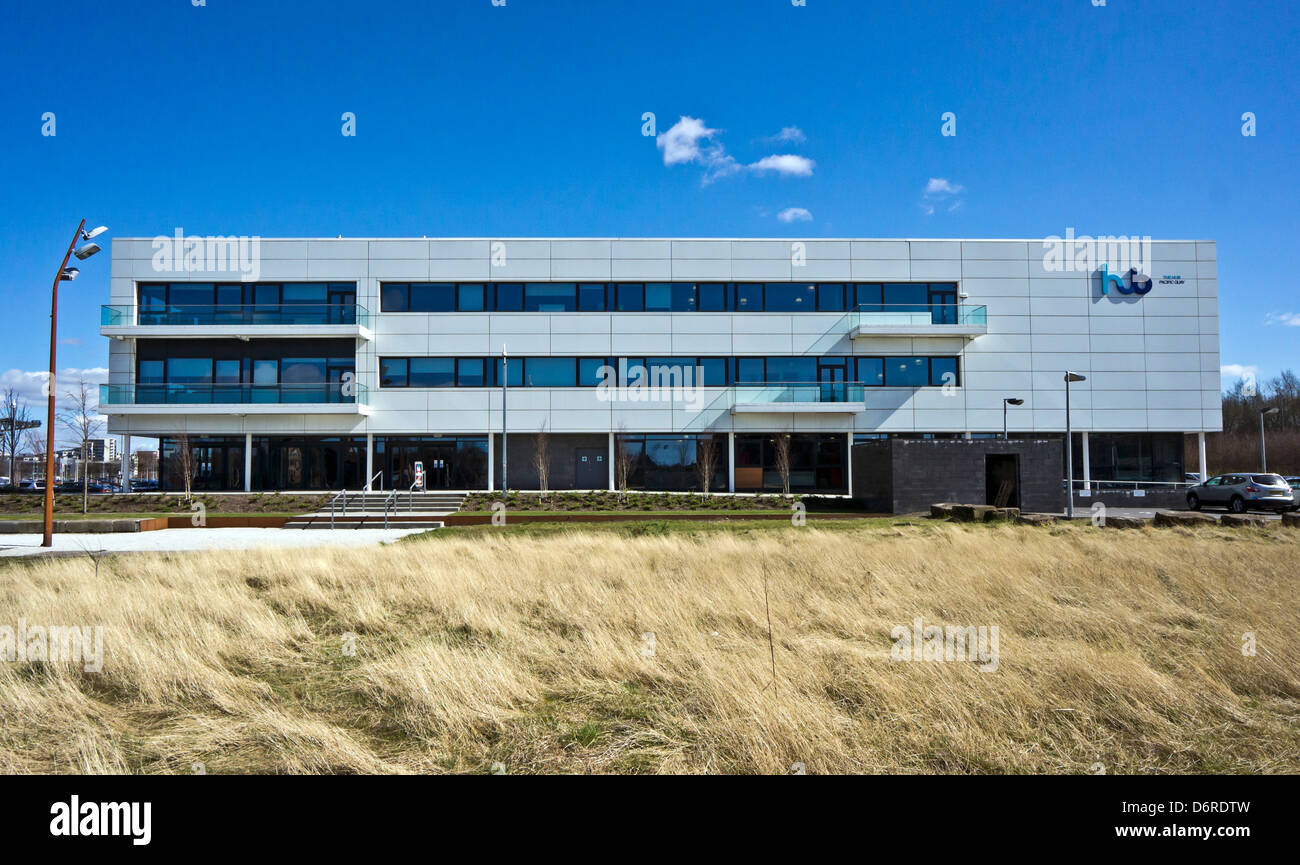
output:
[{"label": "field of dry golden windswept grass in the foreground", "polygon": [[[0,624],[103,624],[107,658],[0,662],[0,770],[1296,773],[1297,539],[885,523],[8,565]],[[998,626],[998,670],[892,661],[916,617]]]}]

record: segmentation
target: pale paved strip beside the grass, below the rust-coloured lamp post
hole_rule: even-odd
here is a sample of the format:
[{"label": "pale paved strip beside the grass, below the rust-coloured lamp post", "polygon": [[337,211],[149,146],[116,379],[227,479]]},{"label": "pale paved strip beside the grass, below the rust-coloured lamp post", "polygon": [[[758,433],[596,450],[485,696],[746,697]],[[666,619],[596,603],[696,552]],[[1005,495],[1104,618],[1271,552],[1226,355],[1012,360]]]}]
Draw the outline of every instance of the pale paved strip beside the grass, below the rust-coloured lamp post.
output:
[{"label": "pale paved strip beside the grass, below the rust-coloured lamp post", "polygon": [[313,546],[378,546],[425,529],[365,528],[347,531],[282,528],[165,528],[156,532],[55,535],[53,548],[40,535],[0,535],[0,557],[75,555],[86,553],[169,553],[230,549],[309,549]]}]

